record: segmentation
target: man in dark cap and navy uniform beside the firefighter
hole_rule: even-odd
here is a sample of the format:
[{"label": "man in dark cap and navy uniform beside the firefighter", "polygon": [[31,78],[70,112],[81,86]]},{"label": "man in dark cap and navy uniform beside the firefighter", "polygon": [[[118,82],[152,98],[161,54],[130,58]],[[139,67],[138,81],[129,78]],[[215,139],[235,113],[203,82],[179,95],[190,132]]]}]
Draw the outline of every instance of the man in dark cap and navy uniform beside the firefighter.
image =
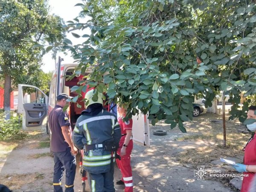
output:
[{"label": "man in dark cap and navy uniform beside the firefighter", "polygon": [[70,118],[63,107],[69,105],[67,99],[72,99],[67,94],[57,96],[57,104],[49,113],[48,122],[51,131],[51,150],[54,155],[53,186],[55,192],[62,192],[61,179],[66,169],[66,192],[74,191],[76,175],[77,149],[72,141]]}]

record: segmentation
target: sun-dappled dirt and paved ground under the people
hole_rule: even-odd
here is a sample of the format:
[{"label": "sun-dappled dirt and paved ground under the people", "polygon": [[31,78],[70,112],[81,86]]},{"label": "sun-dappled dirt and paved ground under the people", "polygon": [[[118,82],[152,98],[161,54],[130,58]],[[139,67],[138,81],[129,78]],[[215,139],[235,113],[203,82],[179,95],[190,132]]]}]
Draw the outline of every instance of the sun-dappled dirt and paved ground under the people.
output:
[{"label": "sun-dappled dirt and paved ground under the people", "polygon": [[[237,191],[229,184],[232,178],[209,177],[208,174],[204,175],[204,180],[198,180],[196,173],[198,167],[204,167],[208,172],[218,169],[221,173],[236,173],[232,167],[214,161],[227,157],[242,159],[241,149],[250,135],[237,131],[241,129],[238,121],[227,120],[227,147],[223,147],[221,116],[203,113],[184,125],[187,133],[180,132],[177,127],[171,130],[161,120],[156,126],[150,126],[150,148],[134,144],[131,157],[134,191]],[[166,130],[167,135],[153,135],[155,129]],[[31,129],[29,134],[30,138],[25,140],[0,142],[0,183],[15,192],[53,191],[53,158],[49,156],[49,138],[45,127]],[[114,181],[120,177],[116,168]],[[62,185],[64,183],[63,179]],[[116,191],[123,191],[122,186],[115,188]],[[81,191],[78,168],[75,191]]]}]

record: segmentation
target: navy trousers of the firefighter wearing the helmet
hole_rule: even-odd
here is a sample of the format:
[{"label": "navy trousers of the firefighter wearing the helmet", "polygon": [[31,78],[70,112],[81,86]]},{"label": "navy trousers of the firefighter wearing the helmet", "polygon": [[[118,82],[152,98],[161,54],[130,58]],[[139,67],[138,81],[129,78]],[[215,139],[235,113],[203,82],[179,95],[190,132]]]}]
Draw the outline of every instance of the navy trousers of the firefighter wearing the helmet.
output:
[{"label": "navy trousers of the firefighter wearing the helmet", "polygon": [[115,192],[114,188],[114,176],[113,172],[110,170],[105,173],[92,173],[91,171],[87,173],[89,174],[89,183],[91,192]]}]

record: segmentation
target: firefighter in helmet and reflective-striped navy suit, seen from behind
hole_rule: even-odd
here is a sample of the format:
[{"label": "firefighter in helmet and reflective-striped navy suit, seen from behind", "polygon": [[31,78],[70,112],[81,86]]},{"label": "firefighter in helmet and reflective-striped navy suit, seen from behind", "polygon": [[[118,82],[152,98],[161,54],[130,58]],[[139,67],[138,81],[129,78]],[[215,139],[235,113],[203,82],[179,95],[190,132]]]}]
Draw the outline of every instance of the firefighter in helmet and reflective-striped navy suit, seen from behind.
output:
[{"label": "firefighter in helmet and reflective-striped navy suit, seen from behind", "polygon": [[83,167],[89,174],[91,191],[114,192],[113,162],[121,130],[117,118],[103,108],[102,94],[98,93],[97,101],[93,95],[93,89],[85,94],[89,101],[77,119],[73,142],[84,149]]}]

